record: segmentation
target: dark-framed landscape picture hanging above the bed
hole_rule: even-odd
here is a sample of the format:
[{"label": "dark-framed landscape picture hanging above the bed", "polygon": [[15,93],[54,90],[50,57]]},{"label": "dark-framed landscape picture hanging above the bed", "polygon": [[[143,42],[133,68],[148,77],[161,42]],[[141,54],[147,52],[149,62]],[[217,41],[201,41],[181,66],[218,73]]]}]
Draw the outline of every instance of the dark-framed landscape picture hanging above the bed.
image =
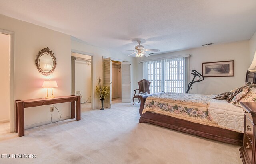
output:
[{"label": "dark-framed landscape picture hanging above the bed", "polygon": [[203,62],[202,75],[204,77],[234,76],[234,61]]}]

